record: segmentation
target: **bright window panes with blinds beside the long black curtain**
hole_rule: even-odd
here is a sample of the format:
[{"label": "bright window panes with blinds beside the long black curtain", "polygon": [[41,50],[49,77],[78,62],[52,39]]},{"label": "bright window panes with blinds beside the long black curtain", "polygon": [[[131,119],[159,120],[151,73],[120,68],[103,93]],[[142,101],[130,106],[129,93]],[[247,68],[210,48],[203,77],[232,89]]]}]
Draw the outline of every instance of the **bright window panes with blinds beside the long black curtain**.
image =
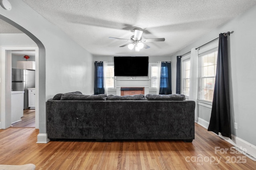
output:
[{"label": "bright window panes with blinds beside the long black curtain", "polygon": [[218,49],[199,55],[198,99],[212,102]]}]

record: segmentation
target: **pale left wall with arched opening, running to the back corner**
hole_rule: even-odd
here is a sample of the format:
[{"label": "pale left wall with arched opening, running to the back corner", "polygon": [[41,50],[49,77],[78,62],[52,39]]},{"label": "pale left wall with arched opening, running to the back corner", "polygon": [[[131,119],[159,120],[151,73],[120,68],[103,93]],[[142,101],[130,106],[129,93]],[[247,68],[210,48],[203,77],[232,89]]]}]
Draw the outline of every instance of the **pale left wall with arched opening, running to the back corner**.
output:
[{"label": "pale left wall with arched opening, running to the back corner", "polygon": [[0,18],[21,29],[39,47],[39,133],[46,134],[46,100],[70,91],[93,94],[93,85],[88,83],[93,82],[92,55],[24,2],[9,1],[12,10],[0,8]]}]

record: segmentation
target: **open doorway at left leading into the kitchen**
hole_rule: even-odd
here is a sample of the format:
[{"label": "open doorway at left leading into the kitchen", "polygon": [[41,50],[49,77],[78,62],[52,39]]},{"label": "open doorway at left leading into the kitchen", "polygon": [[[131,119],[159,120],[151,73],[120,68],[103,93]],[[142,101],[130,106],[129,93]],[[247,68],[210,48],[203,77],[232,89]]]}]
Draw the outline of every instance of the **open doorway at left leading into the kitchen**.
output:
[{"label": "open doorway at left leading into the kitchen", "polygon": [[[23,110],[18,110],[18,107],[15,107],[15,111],[20,112],[22,115],[21,117],[17,117],[18,119],[13,120],[12,119],[12,128],[35,128],[35,72],[36,72],[36,66],[35,66],[35,50],[22,50],[22,51],[11,51],[12,53],[12,93],[15,93],[15,91],[24,91],[23,93]],[[21,79],[21,75],[18,74],[20,72],[25,72],[23,76],[23,81],[20,82],[19,79]],[[23,75],[23,74],[22,74]],[[19,84],[22,84],[22,86],[18,86]],[[12,94],[12,98],[15,96],[15,94]],[[22,98],[21,98],[22,99]],[[13,105],[12,99],[12,105]],[[19,102],[19,101],[18,101]],[[21,103],[21,102],[20,102]],[[14,104],[18,105],[18,104]],[[14,113],[12,110],[12,114]],[[12,115],[13,117],[14,115]]]}]

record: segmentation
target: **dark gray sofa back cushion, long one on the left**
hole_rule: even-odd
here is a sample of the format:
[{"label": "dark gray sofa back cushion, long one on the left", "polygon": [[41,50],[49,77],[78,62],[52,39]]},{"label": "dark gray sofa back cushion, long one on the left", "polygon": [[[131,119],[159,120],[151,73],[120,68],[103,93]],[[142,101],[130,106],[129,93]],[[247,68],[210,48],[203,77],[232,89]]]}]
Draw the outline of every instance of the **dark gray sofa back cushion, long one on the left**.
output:
[{"label": "dark gray sofa back cushion, long one on the left", "polygon": [[84,94],[62,94],[60,100],[106,100],[106,94],[84,95]]}]

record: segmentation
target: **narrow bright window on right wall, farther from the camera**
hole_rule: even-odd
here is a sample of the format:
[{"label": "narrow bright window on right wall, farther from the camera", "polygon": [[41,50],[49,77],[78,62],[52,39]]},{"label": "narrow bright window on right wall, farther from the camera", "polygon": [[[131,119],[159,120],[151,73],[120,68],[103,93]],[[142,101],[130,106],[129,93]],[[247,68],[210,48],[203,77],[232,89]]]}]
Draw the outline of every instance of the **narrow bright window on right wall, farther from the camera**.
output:
[{"label": "narrow bright window on right wall, farther from the camera", "polygon": [[189,96],[190,90],[190,59],[182,61],[182,94]]}]

